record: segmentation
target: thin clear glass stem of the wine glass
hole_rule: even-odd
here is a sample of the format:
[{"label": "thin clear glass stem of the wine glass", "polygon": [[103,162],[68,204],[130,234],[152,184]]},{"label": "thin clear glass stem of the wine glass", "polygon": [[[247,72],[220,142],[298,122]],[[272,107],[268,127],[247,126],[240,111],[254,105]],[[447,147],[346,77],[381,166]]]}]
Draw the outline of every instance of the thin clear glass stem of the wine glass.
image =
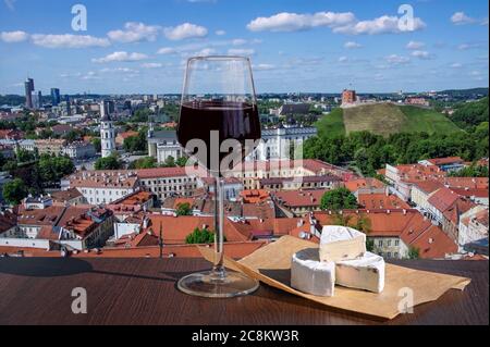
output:
[{"label": "thin clear glass stem of the wine glass", "polygon": [[215,194],[216,259],[212,272],[217,278],[224,278],[226,276],[226,271],[224,270],[224,181],[220,177],[216,177]]}]

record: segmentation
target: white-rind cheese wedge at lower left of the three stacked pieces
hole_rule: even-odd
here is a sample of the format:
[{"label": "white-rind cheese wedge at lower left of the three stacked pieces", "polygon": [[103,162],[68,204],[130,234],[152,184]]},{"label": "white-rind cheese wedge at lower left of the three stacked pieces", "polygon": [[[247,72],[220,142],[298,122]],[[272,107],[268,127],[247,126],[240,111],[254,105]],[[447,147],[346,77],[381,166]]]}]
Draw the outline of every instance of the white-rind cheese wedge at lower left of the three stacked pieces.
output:
[{"label": "white-rind cheese wedge at lower left of the three stacked pieces", "polygon": [[335,263],[321,262],[318,248],[302,250],[293,256],[291,286],[299,292],[322,297],[334,295]]}]

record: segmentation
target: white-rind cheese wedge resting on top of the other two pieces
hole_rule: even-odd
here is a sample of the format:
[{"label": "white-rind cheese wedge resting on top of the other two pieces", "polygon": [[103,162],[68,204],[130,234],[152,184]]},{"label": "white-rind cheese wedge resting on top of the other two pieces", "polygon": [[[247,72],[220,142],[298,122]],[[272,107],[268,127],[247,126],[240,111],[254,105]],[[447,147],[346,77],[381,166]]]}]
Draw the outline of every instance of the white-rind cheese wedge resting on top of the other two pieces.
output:
[{"label": "white-rind cheese wedge resting on top of the other two pieces", "polygon": [[345,226],[324,226],[320,239],[321,261],[343,261],[363,258],[366,234]]}]

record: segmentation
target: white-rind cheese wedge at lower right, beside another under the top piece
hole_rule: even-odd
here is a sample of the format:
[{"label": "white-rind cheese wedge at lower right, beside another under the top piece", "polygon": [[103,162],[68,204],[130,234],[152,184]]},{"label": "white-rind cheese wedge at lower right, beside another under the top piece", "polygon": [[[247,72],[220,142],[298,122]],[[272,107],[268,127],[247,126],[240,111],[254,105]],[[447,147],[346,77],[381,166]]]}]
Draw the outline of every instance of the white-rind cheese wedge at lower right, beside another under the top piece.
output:
[{"label": "white-rind cheese wedge at lower right, beside another under the top piece", "polygon": [[384,259],[366,252],[360,259],[338,262],[335,281],[340,286],[381,293],[384,289]]}]

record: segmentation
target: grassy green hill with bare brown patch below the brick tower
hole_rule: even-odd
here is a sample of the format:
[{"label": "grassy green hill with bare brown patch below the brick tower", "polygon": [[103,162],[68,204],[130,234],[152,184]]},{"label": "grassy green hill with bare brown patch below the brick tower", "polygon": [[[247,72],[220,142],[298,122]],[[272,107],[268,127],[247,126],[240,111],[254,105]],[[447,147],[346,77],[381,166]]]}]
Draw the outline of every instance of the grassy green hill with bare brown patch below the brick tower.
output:
[{"label": "grassy green hill with bare brown patch below the brick tower", "polygon": [[431,109],[391,103],[336,109],[319,120],[316,126],[320,136],[328,137],[364,131],[382,136],[396,133],[461,132],[445,115]]}]

